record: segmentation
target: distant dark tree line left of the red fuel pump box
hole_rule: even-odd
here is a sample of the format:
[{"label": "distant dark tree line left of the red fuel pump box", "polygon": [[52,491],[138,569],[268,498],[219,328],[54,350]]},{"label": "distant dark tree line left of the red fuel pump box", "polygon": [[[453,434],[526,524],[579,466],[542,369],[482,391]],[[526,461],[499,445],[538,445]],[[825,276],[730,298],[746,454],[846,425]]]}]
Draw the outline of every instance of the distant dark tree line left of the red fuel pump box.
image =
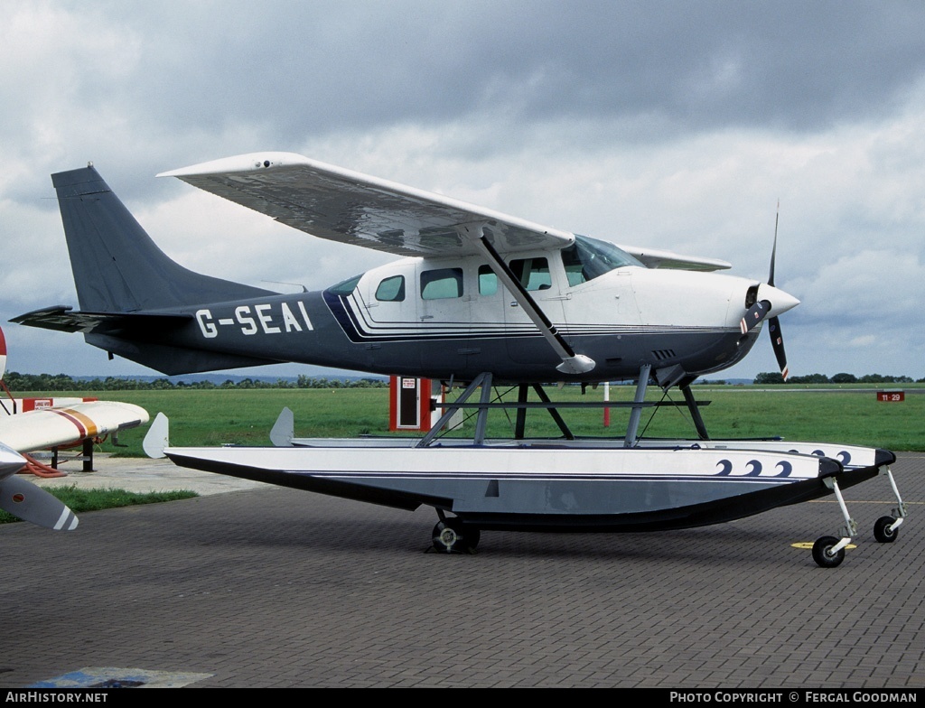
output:
[{"label": "distant dark tree line left of the red fuel pump box", "polygon": [[17,391],[160,391],[166,389],[247,389],[247,388],[386,388],[388,381],[374,378],[328,379],[299,375],[295,380],[244,378],[238,381],[228,379],[224,383],[203,380],[195,382],[179,381],[174,383],[166,378],[146,381],[143,379],[119,378],[106,376],[105,379],[75,379],[64,373],[18,373],[8,372],[4,376],[6,387],[14,394]]}]

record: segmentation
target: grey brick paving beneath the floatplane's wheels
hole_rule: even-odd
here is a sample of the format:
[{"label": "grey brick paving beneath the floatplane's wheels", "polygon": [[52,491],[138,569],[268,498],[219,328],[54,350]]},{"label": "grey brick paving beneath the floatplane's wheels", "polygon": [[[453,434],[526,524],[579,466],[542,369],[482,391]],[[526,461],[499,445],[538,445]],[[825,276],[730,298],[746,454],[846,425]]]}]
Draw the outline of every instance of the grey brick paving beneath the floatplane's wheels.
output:
[{"label": "grey brick paving beneath the floatplane's wheels", "polygon": [[[126,463],[128,464],[128,463]],[[885,479],[845,493],[839,568],[793,543],[833,501],[648,534],[485,532],[425,553],[436,522],[263,487],[0,526],[0,685],[85,667],[213,687],[925,687],[925,455],[894,474],[909,517],[873,539]]]}]

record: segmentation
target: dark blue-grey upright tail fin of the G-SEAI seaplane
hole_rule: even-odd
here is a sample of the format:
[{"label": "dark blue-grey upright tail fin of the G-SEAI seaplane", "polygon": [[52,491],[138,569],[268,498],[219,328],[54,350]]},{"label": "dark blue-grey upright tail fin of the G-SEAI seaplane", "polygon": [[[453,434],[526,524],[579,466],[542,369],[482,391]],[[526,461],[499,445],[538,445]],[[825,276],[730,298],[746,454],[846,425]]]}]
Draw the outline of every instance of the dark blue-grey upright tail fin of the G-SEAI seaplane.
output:
[{"label": "dark blue-grey upright tail fin of the G-SEAI seaplane", "polygon": [[194,273],[145,233],[92,165],[52,175],[80,309],[165,310],[268,290]]}]

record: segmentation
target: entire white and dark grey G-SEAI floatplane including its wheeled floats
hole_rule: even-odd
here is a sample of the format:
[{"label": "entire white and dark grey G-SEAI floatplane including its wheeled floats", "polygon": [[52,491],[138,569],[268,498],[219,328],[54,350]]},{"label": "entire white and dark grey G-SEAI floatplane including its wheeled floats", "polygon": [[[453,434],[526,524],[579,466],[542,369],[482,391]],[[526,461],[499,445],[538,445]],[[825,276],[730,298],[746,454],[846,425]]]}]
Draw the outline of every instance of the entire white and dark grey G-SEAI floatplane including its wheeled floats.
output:
[{"label": "entire white and dark grey G-SEAI floatplane including its wheeled floats", "polygon": [[[464,386],[419,439],[295,439],[276,446],[171,447],[159,417],[147,449],[176,464],[389,507],[434,507],[433,547],[473,552],[482,531],[657,531],[741,519],[834,494],[845,527],[813,557],[838,566],[857,533],[842,490],[882,474],[896,499],[875,525],[892,542],[906,517],[882,449],[816,442],[712,440],[690,385],[742,360],[763,325],[784,377],[779,316],[798,301],[730,264],[618,247],[291,153],[257,153],[162,176],[317,238],[402,256],[322,292],[284,295],[200,275],[171,261],[92,165],[53,176],[80,311],[13,322],[68,332],[159,372],[295,361]],[[635,380],[625,434],[581,438],[543,384]],[[517,389],[497,402],[497,385]],[[677,387],[689,440],[638,434],[648,385]],[[477,395],[476,395],[477,393]],[[472,402],[470,402],[472,399]],[[599,405],[599,404],[595,404]],[[489,439],[489,411],[516,411]],[[442,436],[475,417],[471,439]],[[525,434],[547,409],[561,437]],[[285,426],[284,426],[285,427]]]}]

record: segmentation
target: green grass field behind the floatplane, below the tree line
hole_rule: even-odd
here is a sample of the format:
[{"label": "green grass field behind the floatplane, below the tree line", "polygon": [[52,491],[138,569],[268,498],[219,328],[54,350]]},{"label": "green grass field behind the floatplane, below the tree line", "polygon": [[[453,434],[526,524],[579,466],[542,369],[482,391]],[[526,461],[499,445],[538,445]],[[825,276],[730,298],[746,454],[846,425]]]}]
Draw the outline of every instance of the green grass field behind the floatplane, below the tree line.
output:
[{"label": "green grass field behind the floatplane, below the tree line", "polygon": [[[902,388],[901,402],[877,399],[882,389]],[[790,440],[840,442],[877,446],[894,451],[925,451],[925,393],[921,385],[813,385],[807,386],[709,386],[694,387],[698,400],[709,400],[703,409],[710,436],[768,437]],[[549,397],[564,401],[600,401],[603,389],[589,388],[581,395],[577,386],[549,387]],[[632,386],[611,386],[611,401],[630,401]],[[17,393],[18,397],[46,396],[44,392]],[[57,394],[61,396],[61,393]],[[170,419],[170,443],[174,446],[268,445],[269,431],[283,407],[292,409],[295,433],[304,437],[356,437],[388,433],[387,388],[340,389],[219,389],[165,391],[75,392],[135,403],[147,409],[152,420],[158,411]],[[455,397],[455,394],[454,394]],[[675,400],[682,397],[674,393]],[[648,400],[659,400],[661,391],[650,390]],[[513,399],[510,395],[507,399]],[[686,409],[660,408],[653,416],[643,412],[641,430],[650,437],[696,437]],[[513,411],[492,413],[488,434],[510,437]],[[601,409],[562,409],[563,417],[579,435],[622,437],[629,413],[611,409],[610,427],[603,425]],[[558,436],[559,430],[543,410],[531,410],[527,433]],[[463,425],[471,434],[473,422]],[[106,440],[97,449],[125,456],[143,456],[142,438],[147,426],[122,433],[119,446]]]}]

